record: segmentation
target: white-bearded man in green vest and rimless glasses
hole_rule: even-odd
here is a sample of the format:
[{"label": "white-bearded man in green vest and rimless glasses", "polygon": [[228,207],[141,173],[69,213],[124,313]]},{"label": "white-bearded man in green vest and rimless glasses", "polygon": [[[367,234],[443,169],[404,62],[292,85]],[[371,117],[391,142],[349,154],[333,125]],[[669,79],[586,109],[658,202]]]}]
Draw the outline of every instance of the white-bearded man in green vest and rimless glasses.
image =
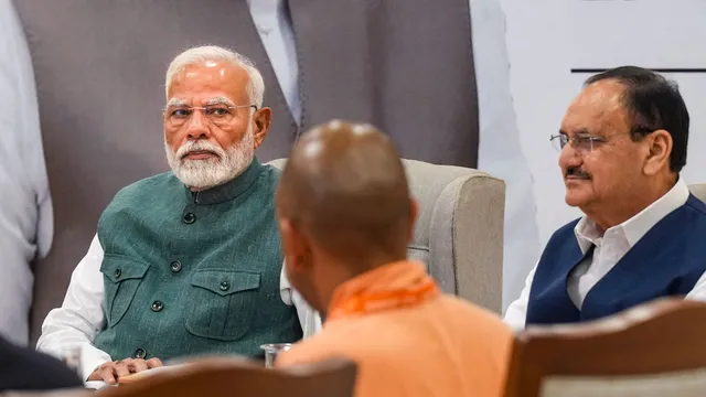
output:
[{"label": "white-bearded man in green vest and rimless glasses", "polygon": [[279,171],[255,158],[271,115],[260,73],[202,46],[172,61],[165,87],[172,171],[118,192],[38,342],[56,355],[79,347],[85,380],[175,357],[256,356],[315,326],[281,271]]}]

